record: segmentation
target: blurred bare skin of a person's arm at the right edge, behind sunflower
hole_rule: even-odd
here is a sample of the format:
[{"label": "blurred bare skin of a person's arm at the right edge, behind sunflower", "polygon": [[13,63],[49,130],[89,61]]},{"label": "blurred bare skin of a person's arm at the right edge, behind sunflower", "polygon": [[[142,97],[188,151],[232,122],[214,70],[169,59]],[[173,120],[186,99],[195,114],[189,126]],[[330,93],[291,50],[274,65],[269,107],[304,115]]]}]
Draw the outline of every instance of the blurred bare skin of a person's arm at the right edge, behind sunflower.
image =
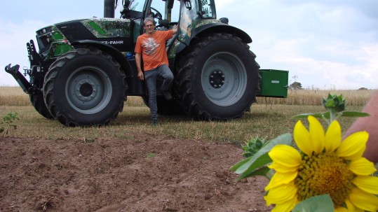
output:
[{"label": "blurred bare skin of a person's arm at the right edge, behind sunflower", "polygon": [[363,112],[370,116],[358,118],[356,122],[346,131],[344,137],[354,132],[366,131],[369,133],[369,140],[366,143],[366,150],[363,156],[371,162],[378,162],[378,92],[375,92],[372,99],[367,102]]}]

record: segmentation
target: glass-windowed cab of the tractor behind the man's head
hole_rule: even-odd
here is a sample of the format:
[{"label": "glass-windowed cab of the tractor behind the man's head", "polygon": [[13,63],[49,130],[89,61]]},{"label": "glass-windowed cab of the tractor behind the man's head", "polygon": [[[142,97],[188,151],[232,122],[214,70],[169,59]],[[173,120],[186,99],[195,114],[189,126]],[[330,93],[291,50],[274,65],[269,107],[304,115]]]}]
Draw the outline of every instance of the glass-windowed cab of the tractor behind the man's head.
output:
[{"label": "glass-windowed cab of the tractor behind the man's head", "polygon": [[[215,3],[213,0],[132,0],[123,1],[121,18],[133,22],[133,38],[143,34],[143,20],[145,17],[156,19],[156,30],[168,30],[174,25],[179,26],[177,40],[189,45],[191,29],[209,21],[220,22],[216,19]],[[170,42],[168,42],[170,43]]]}]

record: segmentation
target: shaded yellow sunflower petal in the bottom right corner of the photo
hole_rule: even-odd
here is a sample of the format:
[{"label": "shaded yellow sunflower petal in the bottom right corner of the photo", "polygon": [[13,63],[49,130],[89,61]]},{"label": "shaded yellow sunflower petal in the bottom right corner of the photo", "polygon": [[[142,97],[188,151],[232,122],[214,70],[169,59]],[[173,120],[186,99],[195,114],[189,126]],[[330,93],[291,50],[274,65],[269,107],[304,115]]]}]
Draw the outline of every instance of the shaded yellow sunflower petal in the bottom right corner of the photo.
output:
[{"label": "shaded yellow sunflower petal in the bottom right corner of the photo", "polygon": [[368,192],[364,192],[359,188],[351,189],[349,199],[351,200],[351,203],[359,209],[365,211],[377,211],[378,209],[378,197],[369,194]]}]

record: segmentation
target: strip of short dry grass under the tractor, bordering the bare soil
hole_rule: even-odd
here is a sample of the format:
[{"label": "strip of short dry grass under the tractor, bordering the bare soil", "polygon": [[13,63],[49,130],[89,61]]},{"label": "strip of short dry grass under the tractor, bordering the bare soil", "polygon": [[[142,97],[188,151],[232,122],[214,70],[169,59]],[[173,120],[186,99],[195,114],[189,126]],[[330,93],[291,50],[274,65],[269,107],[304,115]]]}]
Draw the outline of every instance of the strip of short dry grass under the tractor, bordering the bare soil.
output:
[{"label": "strip of short dry grass under the tractor, bordering the bare soil", "polygon": [[[349,111],[360,111],[362,106],[350,106]],[[299,113],[323,112],[322,106],[295,106],[281,104],[253,104],[251,111],[242,118],[227,122],[205,122],[192,120],[187,116],[163,116],[160,125],[150,125],[147,106],[125,106],[116,120],[106,127],[65,127],[56,120],[47,120],[32,106],[0,106],[0,116],[17,112],[20,120],[15,121],[17,129],[11,129],[8,136],[44,138],[52,141],[81,139],[121,139],[146,141],[146,139],[205,139],[216,143],[244,144],[250,138],[259,136],[273,139],[290,132]],[[353,118],[342,118],[343,132],[351,125]],[[303,121],[306,125],[306,120]]]}]

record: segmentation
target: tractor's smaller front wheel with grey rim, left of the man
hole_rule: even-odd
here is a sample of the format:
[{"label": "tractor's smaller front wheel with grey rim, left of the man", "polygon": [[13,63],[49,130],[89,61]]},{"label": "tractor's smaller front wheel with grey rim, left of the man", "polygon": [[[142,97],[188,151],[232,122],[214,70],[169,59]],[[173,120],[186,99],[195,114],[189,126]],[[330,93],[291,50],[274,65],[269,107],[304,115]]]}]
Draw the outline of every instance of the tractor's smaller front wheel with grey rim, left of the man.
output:
[{"label": "tractor's smaller front wheel with grey rim, left of the man", "polygon": [[50,113],[63,125],[107,125],[123,110],[126,76],[110,55],[76,49],[51,64],[43,83]]}]

